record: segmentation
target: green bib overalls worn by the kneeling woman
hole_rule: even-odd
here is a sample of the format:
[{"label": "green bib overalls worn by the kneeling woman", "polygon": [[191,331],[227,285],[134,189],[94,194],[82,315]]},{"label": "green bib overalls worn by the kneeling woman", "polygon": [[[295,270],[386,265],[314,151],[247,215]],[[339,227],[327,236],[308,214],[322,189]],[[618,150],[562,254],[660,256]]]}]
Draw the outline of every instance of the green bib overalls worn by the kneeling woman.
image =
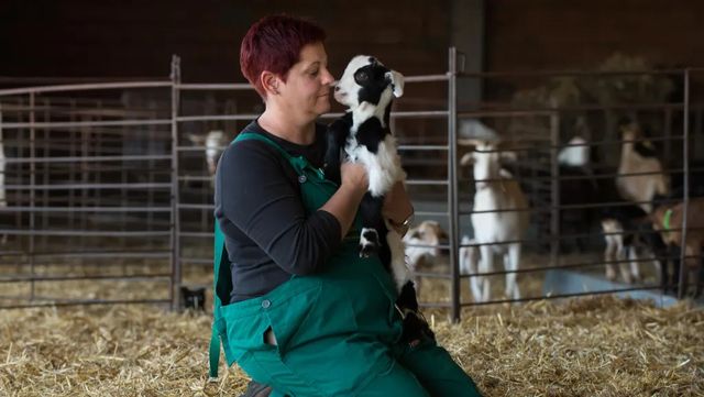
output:
[{"label": "green bib overalls worn by the kneeling woman", "polygon": [[[309,212],[338,189],[305,157],[290,156],[261,134],[243,132],[234,142],[250,139],[274,146],[289,161]],[[273,396],[480,396],[435,341],[415,348],[398,342],[402,318],[394,306],[394,280],[377,258],[359,257],[354,232],[319,273],[293,276],[262,297],[229,305],[222,302],[232,289],[230,261],[218,222],[215,250],[211,376],[217,377],[221,340],[228,365],[237,362],[253,379],[272,386]],[[276,345],[264,340],[270,328]]]}]

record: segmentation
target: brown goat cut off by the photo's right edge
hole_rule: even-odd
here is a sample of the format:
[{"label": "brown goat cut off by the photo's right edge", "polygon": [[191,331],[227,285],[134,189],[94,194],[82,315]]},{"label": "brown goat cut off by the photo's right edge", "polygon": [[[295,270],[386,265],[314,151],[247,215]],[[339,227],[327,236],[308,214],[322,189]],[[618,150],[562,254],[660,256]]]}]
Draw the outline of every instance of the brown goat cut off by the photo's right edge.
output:
[{"label": "brown goat cut off by the photo's right edge", "polygon": [[[686,208],[686,236],[682,240],[682,221],[684,218],[684,203],[675,206],[660,206],[651,213],[653,229],[659,231],[662,240],[670,246],[684,250],[685,260],[684,273],[685,290],[688,280],[697,280],[694,288],[694,296],[702,293],[702,245],[704,245],[704,198],[691,199]],[[676,260],[674,276],[678,275]],[[689,273],[689,275],[688,275]],[[666,274],[666,272],[663,272]],[[663,283],[666,284],[666,283]],[[666,284],[667,285],[667,284]]]}]

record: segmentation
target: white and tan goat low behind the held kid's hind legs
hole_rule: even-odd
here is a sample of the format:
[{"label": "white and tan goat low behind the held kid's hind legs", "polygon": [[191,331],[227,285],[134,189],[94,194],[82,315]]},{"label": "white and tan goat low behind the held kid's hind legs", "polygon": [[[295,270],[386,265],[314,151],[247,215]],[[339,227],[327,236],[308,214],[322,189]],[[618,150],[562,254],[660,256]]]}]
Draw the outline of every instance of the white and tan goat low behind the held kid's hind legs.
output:
[{"label": "white and tan goat low behind the held kid's hind legs", "polygon": [[[442,255],[439,245],[448,240],[448,234],[437,221],[422,221],[404,235],[406,261],[411,272],[431,267]],[[414,277],[416,294],[420,295],[420,278]]]}]

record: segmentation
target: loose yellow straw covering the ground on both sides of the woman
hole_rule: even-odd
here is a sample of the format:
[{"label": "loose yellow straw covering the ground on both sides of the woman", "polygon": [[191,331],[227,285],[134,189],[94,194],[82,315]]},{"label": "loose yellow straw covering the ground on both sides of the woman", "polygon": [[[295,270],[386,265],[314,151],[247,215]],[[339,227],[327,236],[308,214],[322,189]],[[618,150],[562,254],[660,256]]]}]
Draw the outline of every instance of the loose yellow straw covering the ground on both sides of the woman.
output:
[{"label": "loose yellow straw covering the ground on both sides of the woman", "polygon": [[[440,342],[486,396],[704,394],[704,311],[612,297],[432,317]],[[208,315],[151,306],[7,310],[1,396],[238,395],[235,366],[207,384]],[[206,387],[207,386],[207,387]]]}]

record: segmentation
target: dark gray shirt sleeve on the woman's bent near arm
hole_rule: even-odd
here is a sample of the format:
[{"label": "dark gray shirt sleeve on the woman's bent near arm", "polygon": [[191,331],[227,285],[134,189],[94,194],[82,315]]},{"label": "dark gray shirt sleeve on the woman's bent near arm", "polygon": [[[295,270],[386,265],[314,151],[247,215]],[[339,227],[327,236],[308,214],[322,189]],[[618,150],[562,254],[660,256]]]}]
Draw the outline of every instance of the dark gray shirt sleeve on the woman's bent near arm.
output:
[{"label": "dark gray shirt sleeve on the woman's bent near arm", "polygon": [[322,266],[340,245],[340,223],[322,210],[306,213],[280,154],[244,141],[228,147],[220,162],[222,216],[284,271],[306,275]]}]

